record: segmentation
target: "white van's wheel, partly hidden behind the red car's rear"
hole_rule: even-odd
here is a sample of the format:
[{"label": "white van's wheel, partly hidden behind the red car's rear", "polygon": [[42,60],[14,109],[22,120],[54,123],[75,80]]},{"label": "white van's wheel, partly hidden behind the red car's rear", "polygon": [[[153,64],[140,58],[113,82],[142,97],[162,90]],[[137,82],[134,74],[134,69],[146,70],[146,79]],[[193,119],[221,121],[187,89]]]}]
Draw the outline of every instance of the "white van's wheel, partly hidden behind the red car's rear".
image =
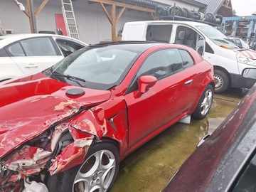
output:
[{"label": "white van's wheel, partly hidden behind the red car's rear", "polygon": [[221,93],[228,89],[230,84],[228,75],[222,70],[214,70],[214,80],[216,93]]}]

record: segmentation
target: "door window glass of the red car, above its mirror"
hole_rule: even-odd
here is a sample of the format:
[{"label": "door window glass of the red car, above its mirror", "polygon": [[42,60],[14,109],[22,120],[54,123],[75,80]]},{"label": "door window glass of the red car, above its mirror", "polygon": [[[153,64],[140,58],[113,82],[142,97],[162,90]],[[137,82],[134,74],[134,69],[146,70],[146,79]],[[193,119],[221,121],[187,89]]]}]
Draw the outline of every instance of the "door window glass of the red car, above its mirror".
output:
[{"label": "door window glass of the red car, above its mirror", "polygon": [[153,75],[159,80],[181,70],[183,70],[183,62],[177,49],[159,50],[146,58],[137,77]]}]

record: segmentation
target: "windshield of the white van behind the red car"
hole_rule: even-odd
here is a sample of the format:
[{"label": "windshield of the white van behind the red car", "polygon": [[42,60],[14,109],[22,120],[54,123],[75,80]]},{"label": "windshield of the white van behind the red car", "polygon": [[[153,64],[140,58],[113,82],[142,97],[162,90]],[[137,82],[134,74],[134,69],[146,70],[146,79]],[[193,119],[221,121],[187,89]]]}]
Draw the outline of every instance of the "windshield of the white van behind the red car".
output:
[{"label": "windshield of the white van behind the red car", "polygon": [[230,38],[225,36],[223,33],[218,31],[216,28],[211,26],[196,26],[200,31],[202,31],[208,38],[210,38],[213,43],[217,44],[218,46],[228,46],[230,49],[237,49],[239,48],[237,44],[235,44]]}]

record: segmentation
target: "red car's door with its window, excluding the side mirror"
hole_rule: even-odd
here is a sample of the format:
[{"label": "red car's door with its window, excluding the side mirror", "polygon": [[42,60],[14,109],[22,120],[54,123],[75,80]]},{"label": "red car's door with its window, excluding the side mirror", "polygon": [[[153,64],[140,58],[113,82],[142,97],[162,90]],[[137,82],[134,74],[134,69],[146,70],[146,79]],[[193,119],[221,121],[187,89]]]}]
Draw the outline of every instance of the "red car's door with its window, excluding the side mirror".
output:
[{"label": "red car's door with its window, excluding the side mirror", "polygon": [[[124,96],[128,106],[130,147],[142,144],[186,112],[184,106],[188,100],[191,74],[183,73],[183,70],[178,49],[158,50],[144,60]],[[154,75],[157,82],[138,97],[136,85],[142,75]]]}]

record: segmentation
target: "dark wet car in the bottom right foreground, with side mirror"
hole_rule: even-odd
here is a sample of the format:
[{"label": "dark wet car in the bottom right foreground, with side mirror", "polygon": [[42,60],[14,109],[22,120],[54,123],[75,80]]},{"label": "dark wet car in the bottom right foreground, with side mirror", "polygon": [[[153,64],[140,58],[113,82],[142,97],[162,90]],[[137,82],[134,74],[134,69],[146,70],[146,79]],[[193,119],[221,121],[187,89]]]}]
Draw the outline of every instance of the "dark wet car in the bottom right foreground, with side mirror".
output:
[{"label": "dark wet car in the bottom right foreground, with side mirror", "polygon": [[[256,69],[245,69],[243,74],[256,79]],[[256,191],[255,178],[256,84],[163,191]]]}]

